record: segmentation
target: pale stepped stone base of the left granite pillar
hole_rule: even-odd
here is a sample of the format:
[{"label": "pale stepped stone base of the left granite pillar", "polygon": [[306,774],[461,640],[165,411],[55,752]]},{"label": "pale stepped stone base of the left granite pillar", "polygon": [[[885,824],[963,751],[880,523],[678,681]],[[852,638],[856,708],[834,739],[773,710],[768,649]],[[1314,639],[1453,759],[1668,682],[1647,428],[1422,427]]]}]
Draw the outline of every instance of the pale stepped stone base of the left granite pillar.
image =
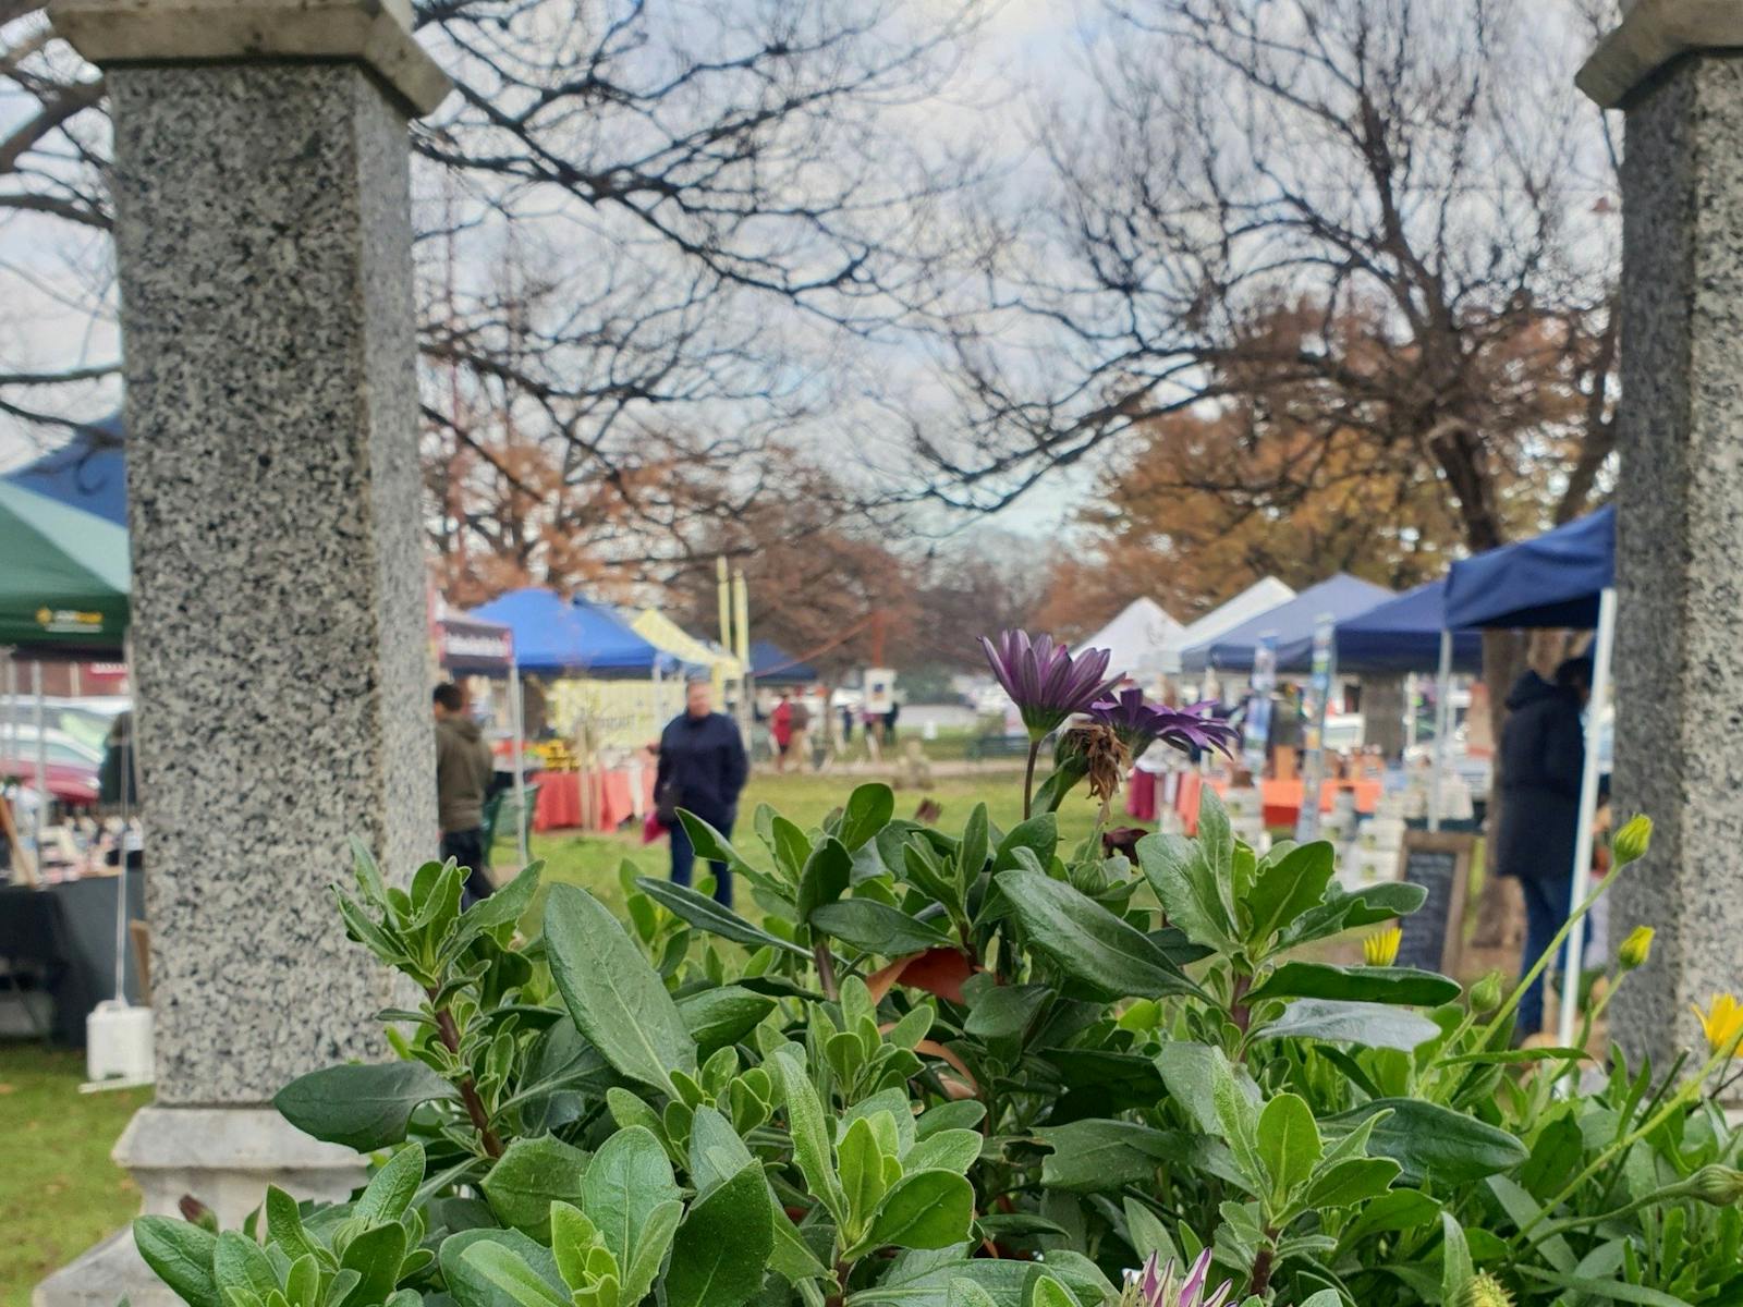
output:
[{"label": "pale stepped stone base of the left granite pillar", "polygon": [[[300,1199],[342,1202],[364,1180],[350,1148],[321,1143],[268,1107],[145,1107],[127,1122],[115,1162],[139,1185],[145,1215],[176,1216],[192,1195],[235,1230],[267,1185]],[[139,1260],[132,1230],[120,1230],[56,1270],[31,1293],[33,1307],[174,1307],[180,1302]]]}]

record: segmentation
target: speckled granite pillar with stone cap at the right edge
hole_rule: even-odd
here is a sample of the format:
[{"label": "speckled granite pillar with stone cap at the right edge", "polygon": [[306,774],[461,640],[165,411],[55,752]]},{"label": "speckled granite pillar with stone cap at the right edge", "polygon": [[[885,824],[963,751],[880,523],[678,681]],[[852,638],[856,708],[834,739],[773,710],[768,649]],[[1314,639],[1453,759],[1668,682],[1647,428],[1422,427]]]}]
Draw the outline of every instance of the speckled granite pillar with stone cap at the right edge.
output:
[{"label": "speckled granite pillar with stone cap at the right edge", "polygon": [[1579,75],[1626,110],[1618,814],[1656,823],[1611,922],[1658,929],[1611,1007],[1631,1060],[1705,1049],[1743,988],[1743,5],[1640,0]]}]

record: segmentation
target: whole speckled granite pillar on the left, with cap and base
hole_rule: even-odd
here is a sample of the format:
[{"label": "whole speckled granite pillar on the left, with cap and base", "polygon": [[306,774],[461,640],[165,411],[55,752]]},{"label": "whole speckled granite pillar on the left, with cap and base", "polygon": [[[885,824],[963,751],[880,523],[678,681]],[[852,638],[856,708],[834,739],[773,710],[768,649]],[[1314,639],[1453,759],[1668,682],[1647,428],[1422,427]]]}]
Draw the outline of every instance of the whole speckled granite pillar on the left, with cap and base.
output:
[{"label": "whole speckled granite pillar on the left, with cap and base", "polygon": [[[58,0],[105,68],[125,352],[157,1103],[145,1206],[234,1227],[359,1159],[270,1110],[382,1054],[389,974],[328,885],[434,852],[408,117],[446,89],[404,0]],[[120,1236],[37,1302],[167,1300]]]}]

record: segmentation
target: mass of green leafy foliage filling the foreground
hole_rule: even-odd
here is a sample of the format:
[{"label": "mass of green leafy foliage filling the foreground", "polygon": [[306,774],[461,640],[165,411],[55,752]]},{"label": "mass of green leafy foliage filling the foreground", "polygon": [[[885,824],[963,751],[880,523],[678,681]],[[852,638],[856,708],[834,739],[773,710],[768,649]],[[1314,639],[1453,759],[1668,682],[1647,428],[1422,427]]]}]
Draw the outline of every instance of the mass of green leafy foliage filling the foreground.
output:
[{"label": "mass of green leafy foliage filling the foreground", "polygon": [[[1740,1143],[1696,1075],[1513,1053],[1511,1004],[1307,945],[1414,911],[1332,849],[1197,838],[1136,864],[1053,809],[1006,831],[762,809],[753,863],[685,814],[760,925],[626,864],[626,920],[537,868],[359,856],[350,934],[422,995],[399,1060],[281,1112],[383,1159],[350,1202],[248,1232],[141,1218],[190,1307],[1107,1307],[1204,1253],[1243,1304],[1743,1302]],[[1492,1004],[1485,1004],[1489,1007]],[[1475,1298],[1473,1298],[1475,1295]]]}]

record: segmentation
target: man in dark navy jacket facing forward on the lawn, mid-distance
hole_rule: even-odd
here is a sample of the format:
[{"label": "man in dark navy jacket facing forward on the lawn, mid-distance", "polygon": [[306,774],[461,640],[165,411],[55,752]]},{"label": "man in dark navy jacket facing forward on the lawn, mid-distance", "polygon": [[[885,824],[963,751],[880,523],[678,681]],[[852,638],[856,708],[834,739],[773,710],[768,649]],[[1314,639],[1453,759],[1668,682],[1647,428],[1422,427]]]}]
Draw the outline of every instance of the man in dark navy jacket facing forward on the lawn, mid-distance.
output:
[{"label": "man in dark navy jacket facing forward on the lawn, mid-distance", "polygon": [[[732,823],[739,817],[739,793],[749,770],[737,723],[713,711],[713,687],[708,681],[690,681],[683,713],[659,737],[654,795],[661,819],[685,809],[722,835],[732,835]],[[682,821],[673,817],[666,826],[671,830],[671,880],[675,885],[688,885],[695,849]],[[715,899],[730,908],[732,873],[725,863],[711,866]]]}]

